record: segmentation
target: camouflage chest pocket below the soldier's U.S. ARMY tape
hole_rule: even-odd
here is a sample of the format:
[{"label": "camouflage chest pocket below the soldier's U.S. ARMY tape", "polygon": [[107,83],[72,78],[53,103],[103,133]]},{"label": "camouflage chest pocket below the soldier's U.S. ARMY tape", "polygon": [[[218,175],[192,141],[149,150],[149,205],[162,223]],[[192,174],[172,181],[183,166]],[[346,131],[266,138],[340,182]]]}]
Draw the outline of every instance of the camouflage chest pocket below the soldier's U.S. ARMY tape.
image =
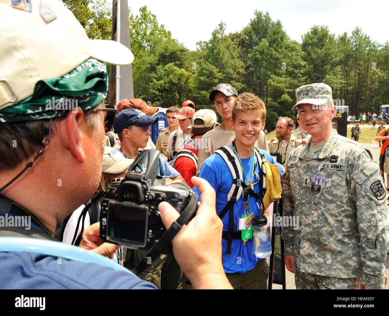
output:
[{"label": "camouflage chest pocket below the soldier's U.S. ARMY tape", "polygon": [[333,214],[343,212],[349,200],[346,170],[322,169],[322,171],[322,188],[315,202]]}]

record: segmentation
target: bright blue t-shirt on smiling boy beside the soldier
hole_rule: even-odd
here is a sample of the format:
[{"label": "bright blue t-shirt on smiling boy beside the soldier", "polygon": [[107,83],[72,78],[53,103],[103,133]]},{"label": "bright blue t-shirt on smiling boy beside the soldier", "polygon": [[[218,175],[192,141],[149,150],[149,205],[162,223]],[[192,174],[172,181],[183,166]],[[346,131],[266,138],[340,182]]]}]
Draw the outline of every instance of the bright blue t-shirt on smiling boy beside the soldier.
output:
[{"label": "bright blue t-shirt on smiling boy beside the soldier", "polygon": [[[282,173],[284,172],[284,167],[279,163],[275,162],[270,156],[270,154],[261,149],[261,152],[265,155],[265,159],[270,162],[278,165],[280,177],[282,177]],[[242,164],[247,172],[248,176],[251,176],[252,169],[252,160],[253,156],[250,158],[242,159]],[[240,166],[238,166],[240,167]],[[259,175],[259,166],[257,163],[256,174]],[[220,214],[221,211],[227,204],[227,195],[232,186],[232,175],[230,169],[224,162],[224,159],[219,154],[213,154],[208,157],[202,164],[200,168],[199,177],[206,179],[210,185],[216,191],[216,212]],[[254,176],[254,181],[258,180],[258,177]],[[246,182],[246,181],[245,181]],[[259,182],[254,185],[254,191],[259,192],[260,184]],[[198,188],[193,188],[200,196],[200,191]],[[200,197],[199,197],[200,199]],[[261,200],[258,200],[258,205],[260,205]],[[255,198],[249,196],[249,212],[254,212],[254,216],[259,215],[259,209],[256,205]],[[228,231],[228,217],[229,211],[223,217],[223,230]],[[244,214],[243,207],[243,196],[239,198],[239,200],[234,205],[234,228],[233,231],[237,232],[237,224],[238,224],[238,216]],[[254,245],[253,239],[249,239],[245,245],[243,245],[243,241],[241,239],[233,239],[231,245],[231,254],[226,255],[227,241],[222,239],[222,256],[223,256],[223,267],[224,272],[226,273],[234,273],[240,272],[245,273],[254,268],[255,264],[262,260],[254,255]]]}]

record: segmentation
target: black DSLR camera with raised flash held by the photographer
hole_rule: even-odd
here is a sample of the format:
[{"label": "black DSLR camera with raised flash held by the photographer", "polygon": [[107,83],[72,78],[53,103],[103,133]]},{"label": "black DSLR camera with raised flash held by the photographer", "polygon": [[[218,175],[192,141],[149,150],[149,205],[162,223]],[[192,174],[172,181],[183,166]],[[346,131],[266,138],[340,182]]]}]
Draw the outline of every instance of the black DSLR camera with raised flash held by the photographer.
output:
[{"label": "black DSLR camera with raised flash held by the photographer", "polygon": [[[166,232],[158,211],[162,201],[181,213],[198,196],[183,183],[165,185],[157,176],[159,151],[144,150],[123,178],[116,178],[101,202],[100,237],[132,249],[151,249]],[[193,214],[195,214],[197,206]],[[193,217],[191,214],[191,217]],[[162,253],[172,255],[171,242]]]}]

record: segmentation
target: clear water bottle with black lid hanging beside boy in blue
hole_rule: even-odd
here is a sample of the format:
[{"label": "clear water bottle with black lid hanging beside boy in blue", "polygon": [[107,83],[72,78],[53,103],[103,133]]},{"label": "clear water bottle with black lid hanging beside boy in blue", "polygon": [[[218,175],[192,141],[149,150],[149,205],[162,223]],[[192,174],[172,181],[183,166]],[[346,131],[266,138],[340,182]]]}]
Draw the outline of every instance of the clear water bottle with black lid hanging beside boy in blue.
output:
[{"label": "clear water bottle with black lid hanging beside boy in blue", "polygon": [[266,216],[260,215],[254,218],[252,237],[254,239],[254,254],[258,258],[266,258],[272,254],[270,227],[267,225]]}]

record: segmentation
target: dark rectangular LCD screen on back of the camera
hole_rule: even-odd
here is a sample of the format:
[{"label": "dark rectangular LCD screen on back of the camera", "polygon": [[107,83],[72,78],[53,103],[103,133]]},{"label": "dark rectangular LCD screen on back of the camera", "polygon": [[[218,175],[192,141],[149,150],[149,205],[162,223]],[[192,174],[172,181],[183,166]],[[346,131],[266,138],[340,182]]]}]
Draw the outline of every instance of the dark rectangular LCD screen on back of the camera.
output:
[{"label": "dark rectangular LCD screen on back of the camera", "polygon": [[119,244],[146,245],[148,208],[142,205],[110,202],[107,239]]}]

